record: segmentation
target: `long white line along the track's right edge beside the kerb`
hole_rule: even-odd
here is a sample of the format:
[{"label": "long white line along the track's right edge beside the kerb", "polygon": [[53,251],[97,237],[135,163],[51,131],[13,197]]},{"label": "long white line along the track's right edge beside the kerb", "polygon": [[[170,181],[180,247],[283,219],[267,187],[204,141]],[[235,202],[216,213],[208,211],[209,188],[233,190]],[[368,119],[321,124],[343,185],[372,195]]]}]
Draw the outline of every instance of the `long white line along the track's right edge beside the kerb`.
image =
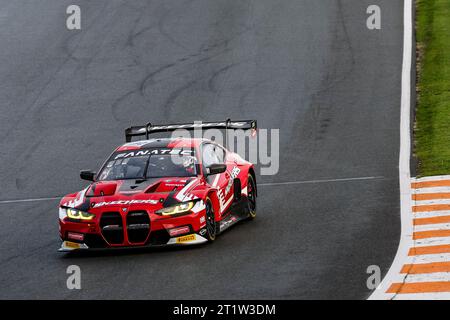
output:
[{"label": "long white line along the track's right edge beside the kerb", "polygon": [[400,106],[400,157],[399,157],[399,179],[400,179],[400,212],[401,212],[401,237],[400,244],[395,255],[394,262],[389,268],[381,284],[370,295],[369,299],[392,299],[394,294],[387,294],[386,290],[400,272],[403,262],[406,260],[412,241],[412,219],[411,219],[411,65],[412,65],[412,0],[404,0],[403,8],[403,65],[402,65],[402,95]]}]

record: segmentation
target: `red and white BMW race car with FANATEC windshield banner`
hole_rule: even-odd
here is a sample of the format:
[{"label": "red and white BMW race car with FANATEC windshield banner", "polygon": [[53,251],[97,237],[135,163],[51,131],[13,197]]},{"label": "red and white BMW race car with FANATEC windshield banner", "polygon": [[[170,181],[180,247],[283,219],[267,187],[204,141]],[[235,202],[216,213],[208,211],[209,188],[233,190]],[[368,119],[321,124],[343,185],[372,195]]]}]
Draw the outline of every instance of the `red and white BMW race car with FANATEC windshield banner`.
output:
[{"label": "red and white BMW race car with FANATEC windshield banner", "polygon": [[[157,138],[177,129],[243,129],[256,121],[131,127],[92,183],[65,196],[59,207],[59,251],[186,245],[213,242],[256,216],[253,164],[207,139]],[[134,136],[145,140],[131,142]]]}]

